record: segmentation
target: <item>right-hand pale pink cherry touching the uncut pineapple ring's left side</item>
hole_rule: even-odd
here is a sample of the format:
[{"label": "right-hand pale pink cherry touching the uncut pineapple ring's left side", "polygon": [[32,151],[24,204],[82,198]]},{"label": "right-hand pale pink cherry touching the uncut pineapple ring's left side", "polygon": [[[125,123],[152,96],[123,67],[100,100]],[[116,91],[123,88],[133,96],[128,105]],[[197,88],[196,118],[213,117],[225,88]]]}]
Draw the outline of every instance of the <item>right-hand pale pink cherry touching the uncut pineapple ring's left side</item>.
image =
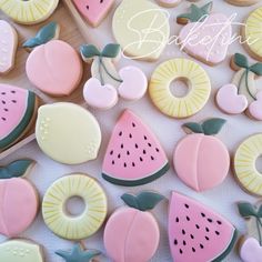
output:
[{"label": "right-hand pale pink cherry touching the uncut pineapple ring's left side", "polygon": [[148,89],[148,79],[137,67],[125,67],[119,71],[123,82],[119,85],[119,95],[127,100],[141,99]]}]

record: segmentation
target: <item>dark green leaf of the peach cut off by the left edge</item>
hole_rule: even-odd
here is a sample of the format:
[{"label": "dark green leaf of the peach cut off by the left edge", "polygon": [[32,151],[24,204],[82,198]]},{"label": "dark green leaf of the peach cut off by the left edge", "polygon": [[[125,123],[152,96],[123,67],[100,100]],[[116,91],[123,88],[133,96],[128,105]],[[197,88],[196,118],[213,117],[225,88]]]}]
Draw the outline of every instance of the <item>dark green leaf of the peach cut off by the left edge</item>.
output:
[{"label": "dark green leaf of the peach cut off by the left edge", "polygon": [[23,177],[28,169],[33,164],[32,160],[17,160],[7,167],[0,168],[0,179],[11,179]]}]

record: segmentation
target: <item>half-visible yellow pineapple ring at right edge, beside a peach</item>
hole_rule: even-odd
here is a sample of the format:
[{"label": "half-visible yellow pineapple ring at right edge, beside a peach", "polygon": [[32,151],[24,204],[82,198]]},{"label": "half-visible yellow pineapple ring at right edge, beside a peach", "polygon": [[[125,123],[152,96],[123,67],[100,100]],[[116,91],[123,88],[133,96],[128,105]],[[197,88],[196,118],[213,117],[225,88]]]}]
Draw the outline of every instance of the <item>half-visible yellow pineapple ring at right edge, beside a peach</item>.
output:
[{"label": "half-visible yellow pineapple ring at right edge, beside a peach", "polygon": [[240,144],[234,154],[235,178],[249,193],[262,195],[262,174],[255,167],[262,154],[262,133],[248,138]]}]

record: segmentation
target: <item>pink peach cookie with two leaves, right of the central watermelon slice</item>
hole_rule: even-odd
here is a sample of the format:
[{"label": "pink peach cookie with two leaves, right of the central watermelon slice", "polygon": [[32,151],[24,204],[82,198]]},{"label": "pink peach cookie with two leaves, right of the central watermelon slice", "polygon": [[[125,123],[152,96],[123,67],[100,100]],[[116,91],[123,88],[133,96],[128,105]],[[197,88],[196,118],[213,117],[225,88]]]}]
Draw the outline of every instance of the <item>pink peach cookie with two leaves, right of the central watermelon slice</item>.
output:
[{"label": "pink peach cookie with two leaves, right of the central watermelon slice", "polygon": [[[189,134],[177,145],[173,154],[179,178],[195,191],[204,191],[221,184],[228,175],[230,155],[226,147],[215,137],[223,119],[209,119],[202,124],[183,124]],[[189,164],[190,163],[190,164]]]}]

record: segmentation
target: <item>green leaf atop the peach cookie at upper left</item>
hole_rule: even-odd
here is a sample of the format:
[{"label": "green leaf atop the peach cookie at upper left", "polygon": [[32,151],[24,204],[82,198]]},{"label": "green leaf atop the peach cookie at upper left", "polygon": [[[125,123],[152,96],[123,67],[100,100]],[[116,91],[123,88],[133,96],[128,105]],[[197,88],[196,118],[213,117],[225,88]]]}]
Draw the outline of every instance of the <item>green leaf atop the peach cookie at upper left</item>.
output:
[{"label": "green leaf atop the peach cookie at upper left", "polygon": [[34,38],[29,39],[26,41],[22,47],[23,48],[34,48],[41,44],[49,42],[50,40],[54,39],[58,34],[59,26],[57,22],[50,22],[37,33]]}]

